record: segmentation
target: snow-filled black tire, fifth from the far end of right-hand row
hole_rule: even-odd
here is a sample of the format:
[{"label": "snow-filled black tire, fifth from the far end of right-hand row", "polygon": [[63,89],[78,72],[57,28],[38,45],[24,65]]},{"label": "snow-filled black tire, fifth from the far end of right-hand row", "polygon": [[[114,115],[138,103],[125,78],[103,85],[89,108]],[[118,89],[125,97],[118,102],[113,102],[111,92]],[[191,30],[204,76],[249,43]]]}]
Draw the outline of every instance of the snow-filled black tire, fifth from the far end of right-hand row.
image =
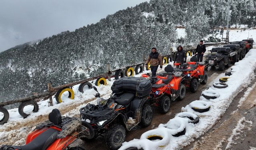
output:
[{"label": "snow-filled black tire, fifth from the far end of right-hand row", "polygon": [[195,100],[189,106],[196,112],[207,112],[211,108],[210,103],[203,100]]}]

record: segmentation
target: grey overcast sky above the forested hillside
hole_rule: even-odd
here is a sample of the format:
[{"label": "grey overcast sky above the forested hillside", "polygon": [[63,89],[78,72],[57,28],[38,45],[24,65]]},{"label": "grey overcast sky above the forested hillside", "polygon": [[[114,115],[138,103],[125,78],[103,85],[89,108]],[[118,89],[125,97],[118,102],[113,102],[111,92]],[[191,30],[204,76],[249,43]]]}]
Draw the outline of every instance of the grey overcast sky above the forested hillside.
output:
[{"label": "grey overcast sky above the forested hillside", "polygon": [[0,52],[149,0],[0,0]]}]

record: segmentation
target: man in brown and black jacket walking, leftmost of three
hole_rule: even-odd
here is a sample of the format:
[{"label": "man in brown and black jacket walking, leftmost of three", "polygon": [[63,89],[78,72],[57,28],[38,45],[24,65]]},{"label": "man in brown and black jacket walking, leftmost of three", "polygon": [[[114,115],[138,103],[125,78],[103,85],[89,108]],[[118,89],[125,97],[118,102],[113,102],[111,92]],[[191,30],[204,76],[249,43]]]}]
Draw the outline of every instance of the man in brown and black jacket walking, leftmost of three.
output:
[{"label": "man in brown and black jacket walking, leftmost of three", "polygon": [[160,64],[160,68],[163,68],[163,60],[160,54],[156,51],[156,47],[151,48],[151,53],[149,54],[147,60],[146,60],[146,68],[148,67],[148,62],[150,62],[150,70],[152,72],[151,77],[156,76],[156,70],[158,68],[158,65]]}]

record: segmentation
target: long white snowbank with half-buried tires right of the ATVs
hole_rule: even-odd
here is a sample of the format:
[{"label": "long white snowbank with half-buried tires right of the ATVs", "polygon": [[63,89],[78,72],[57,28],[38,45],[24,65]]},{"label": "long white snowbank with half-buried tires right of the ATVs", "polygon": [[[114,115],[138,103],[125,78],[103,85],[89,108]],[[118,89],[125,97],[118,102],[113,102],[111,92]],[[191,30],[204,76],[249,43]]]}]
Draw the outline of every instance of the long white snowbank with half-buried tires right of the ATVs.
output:
[{"label": "long white snowbank with half-buried tires right of the ATVs", "polygon": [[[203,96],[200,96],[200,100],[206,101],[210,103],[210,110],[207,112],[196,112],[194,111],[190,104],[182,108],[182,111],[191,112],[200,116],[200,121],[198,124],[188,123],[186,118],[180,118],[176,116],[174,119],[171,119],[167,124],[160,124],[158,128],[154,130],[150,130],[142,134],[140,139],[134,139],[130,142],[124,142],[120,150],[125,150],[129,147],[137,147],[143,148],[144,150],[170,150],[170,149],[180,149],[184,146],[190,144],[190,142],[194,141],[194,138],[199,138],[202,134],[207,132],[216,122],[220,119],[220,117],[224,114],[233,98],[241,91],[243,88],[246,88],[251,79],[254,78],[254,69],[256,68],[256,50],[251,49],[246,57],[239,62],[236,62],[234,66],[232,66],[233,74],[228,78],[226,84],[228,87],[226,88],[214,88],[210,87],[208,90],[215,91],[219,93],[220,96],[215,99],[206,99]],[[219,78],[216,78],[215,82],[217,82]],[[182,123],[181,123],[182,122]],[[179,128],[178,125],[180,124]],[[185,126],[186,134],[174,137],[167,127],[168,125],[176,127],[176,130],[180,131],[181,126]],[[172,127],[173,128],[173,127]],[[172,129],[173,131],[173,129]],[[168,134],[167,134],[168,133]],[[161,136],[162,140],[157,142],[152,142],[145,138],[146,136],[154,135]]]}]

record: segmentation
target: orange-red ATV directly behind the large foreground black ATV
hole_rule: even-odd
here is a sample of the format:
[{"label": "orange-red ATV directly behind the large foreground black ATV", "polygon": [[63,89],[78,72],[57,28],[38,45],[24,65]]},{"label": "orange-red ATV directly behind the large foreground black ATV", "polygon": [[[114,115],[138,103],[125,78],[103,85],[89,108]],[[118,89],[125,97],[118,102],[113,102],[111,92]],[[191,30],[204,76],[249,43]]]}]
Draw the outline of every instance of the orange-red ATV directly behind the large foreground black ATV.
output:
[{"label": "orange-red ATV directly behind the large foreground black ATV", "polygon": [[[171,100],[177,98],[183,100],[186,95],[186,88],[182,84],[182,72],[173,72],[174,68],[168,64],[164,71],[166,73],[151,78],[151,103],[158,106],[160,112],[165,114],[170,109]],[[149,74],[142,74],[142,77],[148,77]]]}]

